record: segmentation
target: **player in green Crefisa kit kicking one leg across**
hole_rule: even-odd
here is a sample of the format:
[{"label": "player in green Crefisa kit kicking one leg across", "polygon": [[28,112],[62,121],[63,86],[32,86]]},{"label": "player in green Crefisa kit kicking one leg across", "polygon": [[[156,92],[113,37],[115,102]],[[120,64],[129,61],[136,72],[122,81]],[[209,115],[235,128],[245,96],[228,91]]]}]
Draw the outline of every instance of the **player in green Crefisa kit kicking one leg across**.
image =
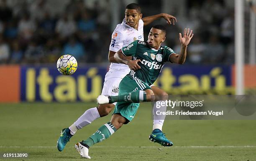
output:
[{"label": "player in green Crefisa kit kicking one leg across", "polygon": [[[183,64],[187,55],[187,45],[193,37],[192,30],[184,30],[184,35],[179,33],[181,50],[176,54],[169,47],[161,47],[164,42],[166,29],[162,25],[155,25],[151,28],[148,41],[134,41],[127,47],[115,53],[117,62],[127,64],[131,72],[127,74],[119,84],[118,96],[97,97],[98,104],[118,102],[115,105],[110,122],[101,126],[87,140],[77,143],[76,149],[84,158],[90,158],[89,147],[93,144],[108,139],[123,124],[131,121],[139,107],[139,102],[155,101],[154,92],[150,85],[155,82],[165,62]],[[131,57],[132,56],[132,60]],[[163,134],[164,135],[164,134]],[[164,137],[164,136],[163,136]],[[166,146],[172,146],[171,141]]]}]

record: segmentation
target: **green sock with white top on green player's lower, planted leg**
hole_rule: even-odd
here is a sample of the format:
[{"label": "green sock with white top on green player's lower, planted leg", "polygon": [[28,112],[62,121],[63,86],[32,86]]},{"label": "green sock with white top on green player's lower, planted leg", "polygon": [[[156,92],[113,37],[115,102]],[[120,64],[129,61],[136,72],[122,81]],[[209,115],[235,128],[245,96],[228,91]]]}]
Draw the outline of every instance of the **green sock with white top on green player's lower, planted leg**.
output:
[{"label": "green sock with white top on green player's lower, planted leg", "polygon": [[113,124],[108,122],[107,124],[103,125],[98,129],[92,136],[90,136],[87,140],[82,141],[83,144],[88,145],[89,147],[93,144],[101,142],[105,139],[108,139],[116,131]]}]

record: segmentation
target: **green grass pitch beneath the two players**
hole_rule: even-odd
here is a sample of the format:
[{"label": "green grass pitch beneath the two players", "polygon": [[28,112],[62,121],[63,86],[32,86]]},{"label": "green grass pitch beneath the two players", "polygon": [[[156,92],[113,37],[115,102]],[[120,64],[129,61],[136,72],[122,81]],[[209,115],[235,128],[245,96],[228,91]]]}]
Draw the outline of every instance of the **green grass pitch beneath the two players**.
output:
[{"label": "green grass pitch beneath the two players", "polygon": [[[0,160],[82,160],[74,144],[87,139],[111,115],[77,131],[64,151],[56,141],[94,103],[0,104],[0,154],[28,153],[27,158]],[[131,123],[90,148],[92,160],[256,160],[256,120],[166,120],[163,131],[174,146],[148,140],[152,131],[150,103],[142,103]]]}]

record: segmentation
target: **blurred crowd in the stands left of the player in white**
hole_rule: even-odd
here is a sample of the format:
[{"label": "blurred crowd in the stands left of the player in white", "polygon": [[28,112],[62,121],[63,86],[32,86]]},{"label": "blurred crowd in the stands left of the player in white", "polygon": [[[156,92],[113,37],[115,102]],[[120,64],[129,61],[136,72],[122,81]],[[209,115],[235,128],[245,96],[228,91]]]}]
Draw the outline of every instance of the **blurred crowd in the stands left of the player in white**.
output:
[{"label": "blurred crowd in the stands left of the player in white", "polygon": [[111,31],[101,19],[109,18],[99,14],[97,1],[97,10],[90,10],[82,0],[70,0],[60,15],[50,14],[46,0],[23,0],[13,7],[6,2],[0,2],[1,64],[53,63],[62,54],[72,54],[79,62],[107,58]]}]

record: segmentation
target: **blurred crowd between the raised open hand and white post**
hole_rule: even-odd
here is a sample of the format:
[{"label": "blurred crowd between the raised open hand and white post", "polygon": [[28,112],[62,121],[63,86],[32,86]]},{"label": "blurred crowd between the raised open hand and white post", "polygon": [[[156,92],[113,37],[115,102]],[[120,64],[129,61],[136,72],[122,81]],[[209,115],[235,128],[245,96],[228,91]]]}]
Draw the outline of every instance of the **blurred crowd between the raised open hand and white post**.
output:
[{"label": "blurred crowd between the raised open hand and white post", "polygon": [[234,63],[233,7],[222,0],[188,1],[186,16],[178,17],[176,30],[169,29],[177,37],[167,37],[174,51],[180,50],[178,33],[183,33],[184,27],[195,33],[188,47],[187,64]]}]

